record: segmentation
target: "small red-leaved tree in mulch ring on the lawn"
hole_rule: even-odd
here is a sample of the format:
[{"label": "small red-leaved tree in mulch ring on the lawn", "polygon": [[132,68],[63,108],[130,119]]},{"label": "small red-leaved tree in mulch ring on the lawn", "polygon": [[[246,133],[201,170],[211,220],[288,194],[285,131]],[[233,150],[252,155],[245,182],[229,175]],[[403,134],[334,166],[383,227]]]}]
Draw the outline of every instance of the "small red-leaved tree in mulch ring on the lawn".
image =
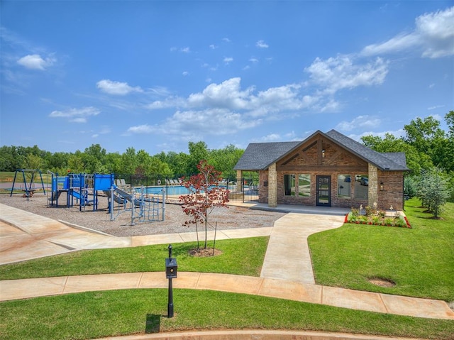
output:
[{"label": "small red-leaved tree in mulch ring on the lawn", "polygon": [[[192,219],[184,221],[184,226],[201,222],[205,224],[205,246],[208,238],[208,218],[209,214],[216,207],[227,207],[228,190],[220,187],[221,172],[209,165],[206,160],[201,160],[197,165],[199,173],[192,175],[189,180],[182,178],[182,185],[189,190],[188,194],[179,197],[182,202],[182,209],[185,214],[192,216]],[[211,226],[212,227],[212,226]],[[197,247],[199,247],[199,237],[197,236]]]}]

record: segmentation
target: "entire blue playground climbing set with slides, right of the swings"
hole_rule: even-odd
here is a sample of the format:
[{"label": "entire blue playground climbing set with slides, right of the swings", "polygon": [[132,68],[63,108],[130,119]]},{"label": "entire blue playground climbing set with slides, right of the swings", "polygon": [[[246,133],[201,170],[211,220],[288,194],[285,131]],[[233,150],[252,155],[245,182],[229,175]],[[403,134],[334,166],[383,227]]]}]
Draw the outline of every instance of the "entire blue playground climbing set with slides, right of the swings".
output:
[{"label": "entire blue playground climbing set with slides, right of the swings", "polygon": [[143,187],[134,188],[128,193],[124,188],[115,185],[115,175],[101,174],[74,174],[59,176],[52,175],[52,194],[48,199],[51,207],[58,207],[58,199],[62,192],[67,193],[67,207],[79,204],[79,210],[85,211],[92,206],[93,211],[98,209],[99,192],[104,192],[108,199],[111,221],[125,212],[131,212],[131,225],[138,222],[164,221],[165,218],[165,191],[158,194],[148,194]]}]

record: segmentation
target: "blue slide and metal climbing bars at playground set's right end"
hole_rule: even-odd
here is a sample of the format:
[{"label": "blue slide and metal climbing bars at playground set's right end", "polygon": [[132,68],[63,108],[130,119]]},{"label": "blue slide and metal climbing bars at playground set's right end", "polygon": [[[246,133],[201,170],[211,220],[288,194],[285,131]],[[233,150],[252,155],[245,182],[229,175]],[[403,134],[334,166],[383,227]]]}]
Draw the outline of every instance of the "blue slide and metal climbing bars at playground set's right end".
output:
[{"label": "blue slide and metal climbing bars at playground set's right end", "polygon": [[148,194],[144,187],[135,188],[129,194],[116,185],[112,185],[109,192],[109,212],[111,221],[125,212],[131,212],[131,226],[138,222],[164,221],[165,219],[165,191]]}]

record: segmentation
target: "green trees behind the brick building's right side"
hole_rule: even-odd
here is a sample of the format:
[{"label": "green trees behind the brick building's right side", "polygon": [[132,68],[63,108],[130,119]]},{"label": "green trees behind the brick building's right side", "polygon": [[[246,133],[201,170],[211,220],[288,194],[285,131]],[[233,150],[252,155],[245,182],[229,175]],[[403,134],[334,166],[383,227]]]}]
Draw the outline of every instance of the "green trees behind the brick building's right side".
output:
[{"label": "green trees behind the brick building's right side", "polygon": [[404,182],[405,194],[419,197],[435,216],[446,201],[454,202],[454,111],[445,114],[448,131],[433,116],[417,118],[404,126],[405,136],[362,137],[362,143],[378,152],[404,152],[411,170]]}]

